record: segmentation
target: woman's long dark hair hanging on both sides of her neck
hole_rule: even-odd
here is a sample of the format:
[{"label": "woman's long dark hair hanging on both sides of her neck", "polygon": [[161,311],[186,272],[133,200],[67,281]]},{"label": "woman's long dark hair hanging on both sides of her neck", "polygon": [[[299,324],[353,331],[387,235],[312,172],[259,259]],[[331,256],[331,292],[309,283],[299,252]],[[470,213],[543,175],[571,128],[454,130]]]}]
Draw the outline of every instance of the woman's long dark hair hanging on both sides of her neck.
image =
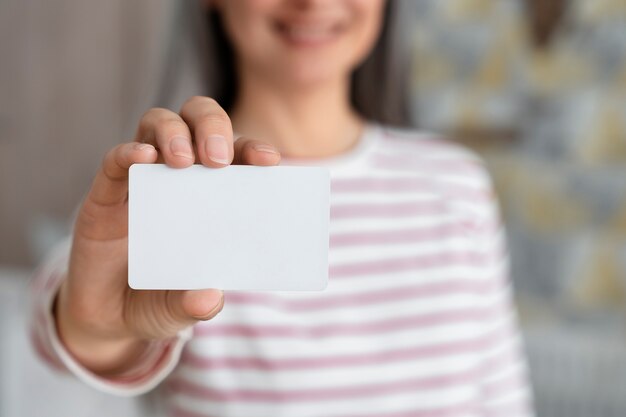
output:
[{"label": "woman's long dark hair hanging on both sides of her neck", "polygon": [[[366,119],[410,125],[410,0],[388,0],[380,36],[352,74],[352,104]],[[156,105],[177,108],[189,95],[215,98],[228,110],[237,95],[234,54],[219,13],[199,1],[179,2]],[[188,78],[195,80],[190,81]]]}]

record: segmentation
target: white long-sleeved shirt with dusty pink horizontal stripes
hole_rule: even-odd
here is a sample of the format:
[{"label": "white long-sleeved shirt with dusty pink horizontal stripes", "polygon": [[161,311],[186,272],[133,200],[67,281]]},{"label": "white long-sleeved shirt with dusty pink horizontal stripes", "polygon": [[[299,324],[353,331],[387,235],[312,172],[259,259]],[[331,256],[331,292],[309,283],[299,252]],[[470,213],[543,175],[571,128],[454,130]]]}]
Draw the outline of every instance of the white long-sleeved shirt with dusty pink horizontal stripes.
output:
[{"label": "white long-sleeved shirt with dusty pink horizontal stripes", "polygon": [[[286,161],[287,164],[312,163]],[[226,292],[223,311],[103,379],[55,333],[68,245],[35,280],[40,356],[120,395],[158,384],[179,417],[529,416],[489,176],[445,140],[370,125],[331,171],[329,285]]]}]

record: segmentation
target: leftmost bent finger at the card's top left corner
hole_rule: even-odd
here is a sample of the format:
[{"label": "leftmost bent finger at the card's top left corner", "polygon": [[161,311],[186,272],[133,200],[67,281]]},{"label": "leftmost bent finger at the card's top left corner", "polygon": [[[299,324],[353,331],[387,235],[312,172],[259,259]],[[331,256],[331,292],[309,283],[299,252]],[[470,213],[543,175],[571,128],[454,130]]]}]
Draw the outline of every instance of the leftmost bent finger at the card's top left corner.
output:
[{"label": "leftmost bent finger at the card's top left corner", "polygon": [[110,150],[96,174],[88,198],[101,206],[126,201],[128,170],[133,164],[151,164],[157,159],[154,146],[147,143],[122,143]]}]

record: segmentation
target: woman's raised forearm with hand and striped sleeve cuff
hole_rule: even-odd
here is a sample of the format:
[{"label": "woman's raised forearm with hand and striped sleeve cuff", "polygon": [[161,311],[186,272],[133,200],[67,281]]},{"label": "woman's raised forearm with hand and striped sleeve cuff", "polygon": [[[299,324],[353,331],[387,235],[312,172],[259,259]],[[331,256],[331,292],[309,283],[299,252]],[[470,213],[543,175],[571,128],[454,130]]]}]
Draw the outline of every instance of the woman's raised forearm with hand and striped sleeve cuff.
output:
[{"label": "woman's raised forearm with hand and striped sleeve cuff", "polygon": [[213,289],[128,287],[128,169],[157,161],[175,168],[196,160],[213,168],[231,161],[276,165],[278,152],[260,144],[241,139],[233,145],[228,116],[206,97],[190,99],[180,114],[147,112],[135,142],[118,145],[105,157],[79,210],[71,244],[39,270],[33,341],[41,356],[122,395],[148,391],[165,378],[190,326],[219,313],[223,296]]}]

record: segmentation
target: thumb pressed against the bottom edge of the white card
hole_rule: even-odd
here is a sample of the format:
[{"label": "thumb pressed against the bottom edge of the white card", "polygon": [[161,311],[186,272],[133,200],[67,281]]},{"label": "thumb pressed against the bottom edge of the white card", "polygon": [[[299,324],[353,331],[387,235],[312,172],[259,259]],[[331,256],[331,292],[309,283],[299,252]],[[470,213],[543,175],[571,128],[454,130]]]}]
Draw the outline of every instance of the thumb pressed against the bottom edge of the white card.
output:
[{"label": "thumb pressed against the bottom edge of the white card", "polygon": [[127,305],[131,331],[145,339],[173,337],[200,320],[210,320],[222,310],[220,290],[135,291]]}]

